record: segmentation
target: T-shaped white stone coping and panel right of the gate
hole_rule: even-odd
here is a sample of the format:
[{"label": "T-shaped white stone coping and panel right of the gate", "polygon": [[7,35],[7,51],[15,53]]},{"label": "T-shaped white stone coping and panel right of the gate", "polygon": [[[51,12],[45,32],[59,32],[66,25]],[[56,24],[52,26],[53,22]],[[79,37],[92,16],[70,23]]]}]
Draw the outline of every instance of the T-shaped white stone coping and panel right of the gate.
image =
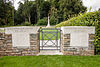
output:
[{"label": "T-shaped white stone coping and panel right of the gate", "polygon": [[70,46],[88,47],[89,34],[95,34],[95,27],[66,26],[61,27],[63,34],[70,34]]}]

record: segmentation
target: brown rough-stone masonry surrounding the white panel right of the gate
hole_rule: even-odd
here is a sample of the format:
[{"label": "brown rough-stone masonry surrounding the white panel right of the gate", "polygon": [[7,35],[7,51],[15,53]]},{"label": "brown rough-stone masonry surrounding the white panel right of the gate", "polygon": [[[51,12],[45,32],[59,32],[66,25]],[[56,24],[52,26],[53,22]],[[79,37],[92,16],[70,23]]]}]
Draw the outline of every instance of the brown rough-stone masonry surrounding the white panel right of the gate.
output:
[{"label": "brown rough-stone masonry surrounding the white panel right of the gate", "polygon": [[94,55],[94,34],[89,34],[89,46],[70,46],[70,34],[62,34],[62,52],[64,55]]}]

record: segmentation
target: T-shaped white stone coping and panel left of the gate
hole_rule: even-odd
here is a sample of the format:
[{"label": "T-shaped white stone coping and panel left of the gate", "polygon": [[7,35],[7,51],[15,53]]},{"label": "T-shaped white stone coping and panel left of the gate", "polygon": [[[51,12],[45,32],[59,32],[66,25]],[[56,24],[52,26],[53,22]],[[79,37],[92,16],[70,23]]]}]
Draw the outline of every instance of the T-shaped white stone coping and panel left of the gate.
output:
[{"label": "T-shaped white stone coping and panel left of the gate", "polygon": [[29,47],[30,34],[37,34],[39,27],[7,27],[5,34],[12,34],[13,47]]}]

